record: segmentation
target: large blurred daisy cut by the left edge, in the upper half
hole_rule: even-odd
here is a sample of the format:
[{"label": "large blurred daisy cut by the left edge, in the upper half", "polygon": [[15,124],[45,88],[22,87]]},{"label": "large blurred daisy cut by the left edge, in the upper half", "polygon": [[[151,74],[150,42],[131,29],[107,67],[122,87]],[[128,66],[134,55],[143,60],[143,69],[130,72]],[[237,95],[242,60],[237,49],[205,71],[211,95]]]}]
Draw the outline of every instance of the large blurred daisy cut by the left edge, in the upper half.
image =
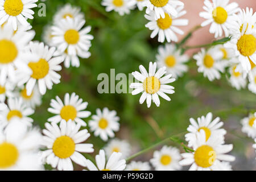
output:
[{"label": "large blurred daisy cut by the left edge, in the upper half", "polygon": [[[1,1],[0,1],[1,3]],[[0,28],[0,83],[5,84],[6,78],[16,81],[15,69],[26,69],[22,60],[23,49],[35,36],[34,31],[16,32],[8,24]]]}]

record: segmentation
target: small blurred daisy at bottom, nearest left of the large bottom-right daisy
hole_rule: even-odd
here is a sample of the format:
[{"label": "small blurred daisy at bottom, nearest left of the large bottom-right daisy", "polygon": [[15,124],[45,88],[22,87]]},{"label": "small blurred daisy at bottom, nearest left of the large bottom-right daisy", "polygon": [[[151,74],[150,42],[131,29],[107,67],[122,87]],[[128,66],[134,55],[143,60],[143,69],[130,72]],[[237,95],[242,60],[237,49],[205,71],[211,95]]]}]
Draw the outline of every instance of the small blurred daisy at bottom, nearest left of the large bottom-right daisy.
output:
[{"label": "small blurred daisy at bottom, nearest left of the large bottom-right daisy", "polygon": [[181,169],[180,159],[180,151],[177,148],[163,146],[160,151],[154,152],[154,158],[150,159],[150,163],[156,171],[177,171]]}]

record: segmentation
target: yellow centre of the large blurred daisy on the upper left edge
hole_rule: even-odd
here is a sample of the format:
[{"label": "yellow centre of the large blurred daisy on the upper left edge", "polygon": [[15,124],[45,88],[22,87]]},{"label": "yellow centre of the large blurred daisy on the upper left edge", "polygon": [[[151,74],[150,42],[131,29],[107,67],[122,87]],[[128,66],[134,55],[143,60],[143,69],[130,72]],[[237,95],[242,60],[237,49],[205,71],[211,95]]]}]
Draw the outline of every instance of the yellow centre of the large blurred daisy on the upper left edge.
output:
[{"label": "yellow centre of the large blurred daisy on the upper left edge", "polygon": [[10,40],[0,40],[0,64],[12,63],[18,56],[18,49]]}]

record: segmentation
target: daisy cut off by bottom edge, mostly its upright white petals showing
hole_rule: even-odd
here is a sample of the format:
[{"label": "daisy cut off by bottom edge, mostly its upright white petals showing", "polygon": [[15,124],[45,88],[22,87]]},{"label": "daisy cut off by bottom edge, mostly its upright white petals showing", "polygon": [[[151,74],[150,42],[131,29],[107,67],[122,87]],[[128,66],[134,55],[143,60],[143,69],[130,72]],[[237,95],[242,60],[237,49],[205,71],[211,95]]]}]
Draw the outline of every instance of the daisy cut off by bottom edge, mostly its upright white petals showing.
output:
[{"label": "daisy cut off by bottom edge, mostly its upright white petals showing", "polygon": [[106,162],[106,156],[104,150],[100,150],[99,154],[96,155],[95,166],[90,160],[86,160],[86,167],[89,171],[123,171],[126,167],[126,160],[121,159],[122,153],[113,152]]}]

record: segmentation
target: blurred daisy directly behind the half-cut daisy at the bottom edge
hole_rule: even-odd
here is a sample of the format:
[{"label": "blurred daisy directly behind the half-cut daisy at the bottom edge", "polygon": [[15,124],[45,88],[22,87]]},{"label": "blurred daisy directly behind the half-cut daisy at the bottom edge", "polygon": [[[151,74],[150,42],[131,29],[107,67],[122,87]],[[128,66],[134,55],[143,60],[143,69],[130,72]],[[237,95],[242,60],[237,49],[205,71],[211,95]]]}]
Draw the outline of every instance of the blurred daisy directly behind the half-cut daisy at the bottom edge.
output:
[{"label": "blurred daisy directly behind the half-cut daisy at the bottom edge", "polygon": [[110,157],[113,152],[121,152],[122,158],[127,158],[131,154],[131,146],[126,140],[112,139],[104,147],[106,156]]}]

